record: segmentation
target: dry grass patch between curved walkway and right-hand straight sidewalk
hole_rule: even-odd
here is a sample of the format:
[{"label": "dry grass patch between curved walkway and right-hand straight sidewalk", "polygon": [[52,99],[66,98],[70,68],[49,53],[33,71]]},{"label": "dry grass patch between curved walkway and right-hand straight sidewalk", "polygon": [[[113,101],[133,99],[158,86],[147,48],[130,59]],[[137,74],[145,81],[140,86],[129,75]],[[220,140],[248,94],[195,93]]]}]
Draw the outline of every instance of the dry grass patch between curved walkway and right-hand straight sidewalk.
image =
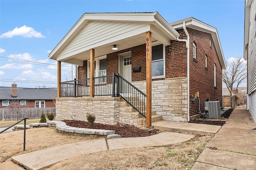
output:
[{"label": "dry grass patch between curved walkway and right-hand straight sidewalk", "polygon": [[189,170],[211,136],[162,147],[106,150],[76,156],[54,164],[49,170]]}]

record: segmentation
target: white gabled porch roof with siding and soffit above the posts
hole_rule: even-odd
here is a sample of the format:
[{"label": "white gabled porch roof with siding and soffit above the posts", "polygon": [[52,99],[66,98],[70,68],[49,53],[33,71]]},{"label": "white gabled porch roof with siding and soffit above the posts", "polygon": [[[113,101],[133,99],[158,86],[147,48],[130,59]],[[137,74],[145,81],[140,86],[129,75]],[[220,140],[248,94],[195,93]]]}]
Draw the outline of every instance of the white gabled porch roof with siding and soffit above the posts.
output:
[{"label": "white gabled porch roof with siding and soffit above the posts", "polygon": [[158,13],[85,13],[48,55],[50,59],[83,65],[95,57],[146,42],[146,32],[152,32],[152,44],[170,45],[180,34]]}]

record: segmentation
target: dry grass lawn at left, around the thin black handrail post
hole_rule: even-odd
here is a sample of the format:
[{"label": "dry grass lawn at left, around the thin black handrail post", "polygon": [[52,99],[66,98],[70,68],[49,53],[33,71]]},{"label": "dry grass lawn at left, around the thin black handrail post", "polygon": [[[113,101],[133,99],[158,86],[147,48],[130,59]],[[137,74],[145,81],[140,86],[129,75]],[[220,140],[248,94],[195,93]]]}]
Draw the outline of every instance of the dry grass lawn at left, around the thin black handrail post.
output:
[{"label": "dry grass lawn at left, around the thin black handrail post", "polygon": [[94,139],[58,133],[55,128],[49,127],[26,129],[26,150],[23,151],[23,137],[23,130],[0,134],[0,162],[8,160],[11,156],[47,147]]}]

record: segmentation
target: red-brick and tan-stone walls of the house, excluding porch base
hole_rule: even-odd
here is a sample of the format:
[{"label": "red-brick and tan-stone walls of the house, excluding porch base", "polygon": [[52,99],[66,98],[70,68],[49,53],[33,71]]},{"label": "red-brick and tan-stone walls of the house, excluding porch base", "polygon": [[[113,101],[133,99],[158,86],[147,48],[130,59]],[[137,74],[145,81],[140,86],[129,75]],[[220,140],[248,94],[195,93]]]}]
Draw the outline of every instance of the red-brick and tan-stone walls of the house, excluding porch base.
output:
[{"label": "red-brick and tan-stone walls of the house, excluding porch base", "polygon": [[[195,29],[187,28],[190,35],[190,116],[199,111],[198,102],[191,102],[199,91],[201,111],[204,102],[220,101],[222,106],[222,67],[218,59],[212,36]],[[183,29],[177,30],[180,39],[186,39]],[[211,39],[211,47],[210,47]],[[193,59],[193,42],[196,44],[197,59]],[[132,72],[132,83],[146,92],[146,45],[107,54],[107,75],[118,73],[118,54],[132,51],[132,68],[140,66],[140,72]],[[205,55],[208,56],[207,69]],[[216,64],[216,88],[214,87],[214,64]],[[87,61],[78,67],[78,79],[87,78]],[[152,109],[163,119],[186,121],[187,119],[187,50],[186,43],[171,41],[165,48],[165,78],[152,79]],[[176,84],[175,84],[175,83]],[[167,102],[166,102],[167,101]]]}]

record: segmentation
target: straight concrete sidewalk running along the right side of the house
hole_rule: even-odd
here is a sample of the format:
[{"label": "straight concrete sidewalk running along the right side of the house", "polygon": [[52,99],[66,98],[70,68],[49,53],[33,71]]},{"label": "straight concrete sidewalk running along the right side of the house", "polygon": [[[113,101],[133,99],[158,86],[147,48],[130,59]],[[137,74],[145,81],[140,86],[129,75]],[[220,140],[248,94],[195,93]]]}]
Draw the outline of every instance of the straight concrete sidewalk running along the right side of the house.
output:
[{"label": "straight concrete sidewalk running along the right side of the house", "polygon": [[192,170],[256,170],[256,124],[246,109],[236,108],[206,145]]}]

